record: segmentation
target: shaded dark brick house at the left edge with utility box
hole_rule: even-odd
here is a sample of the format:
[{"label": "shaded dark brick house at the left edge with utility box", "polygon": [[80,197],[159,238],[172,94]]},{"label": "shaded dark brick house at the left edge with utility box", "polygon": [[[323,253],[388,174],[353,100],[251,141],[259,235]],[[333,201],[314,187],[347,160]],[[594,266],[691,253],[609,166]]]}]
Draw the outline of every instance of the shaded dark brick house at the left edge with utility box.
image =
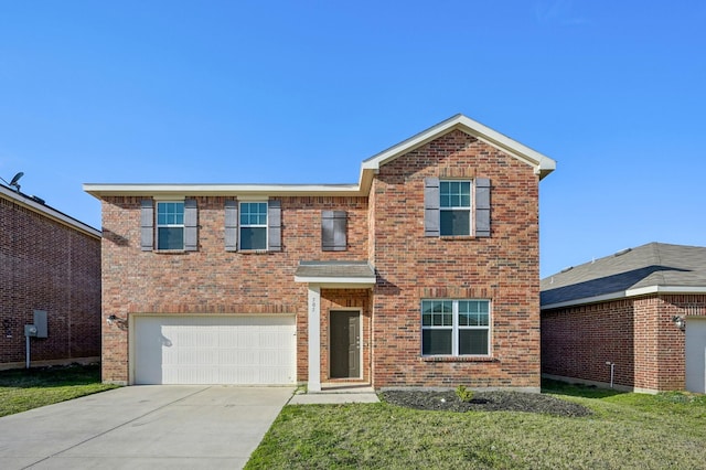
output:
[{"label": "shaded dark brick house at the left edge with utility box", "polygon": [[[100,232],[0,185],[0,368],[100,360]],[[40,324],[41,323],[41,324]]]}]

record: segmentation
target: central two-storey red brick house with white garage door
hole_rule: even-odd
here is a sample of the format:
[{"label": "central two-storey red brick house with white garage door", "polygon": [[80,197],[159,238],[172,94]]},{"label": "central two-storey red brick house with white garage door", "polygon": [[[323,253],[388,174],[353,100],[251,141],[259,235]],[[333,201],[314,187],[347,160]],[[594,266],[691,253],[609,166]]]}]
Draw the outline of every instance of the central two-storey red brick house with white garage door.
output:
[{"label": "central two-storey red brick house with white garage door", "polygon": [[86,184],[104,381],[538,391],[554,168],[458,115],[363,161],[356,184]]}]

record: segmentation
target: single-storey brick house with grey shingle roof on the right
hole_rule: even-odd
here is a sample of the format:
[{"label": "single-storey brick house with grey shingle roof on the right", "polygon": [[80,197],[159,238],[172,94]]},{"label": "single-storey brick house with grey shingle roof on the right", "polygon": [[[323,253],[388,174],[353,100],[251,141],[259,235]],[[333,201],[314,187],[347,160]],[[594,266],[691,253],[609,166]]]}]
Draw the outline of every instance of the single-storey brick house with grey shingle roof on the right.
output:
[{"label": "single-storey brick house with grey shingle roof on the right", "polygon": [[542,280],[545,376],[704,393],[706,247],[650,243]]}]

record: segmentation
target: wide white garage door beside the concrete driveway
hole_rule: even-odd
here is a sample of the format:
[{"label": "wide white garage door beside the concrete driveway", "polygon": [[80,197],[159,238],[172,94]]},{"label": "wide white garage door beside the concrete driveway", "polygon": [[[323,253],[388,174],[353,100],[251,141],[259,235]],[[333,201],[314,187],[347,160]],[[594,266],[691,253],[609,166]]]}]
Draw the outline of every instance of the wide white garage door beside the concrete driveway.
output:
[{"label": "wide white garage door beside the concrete driveway", "polygon": [[136,317],[136,384],[297,381],[295,317]]}]

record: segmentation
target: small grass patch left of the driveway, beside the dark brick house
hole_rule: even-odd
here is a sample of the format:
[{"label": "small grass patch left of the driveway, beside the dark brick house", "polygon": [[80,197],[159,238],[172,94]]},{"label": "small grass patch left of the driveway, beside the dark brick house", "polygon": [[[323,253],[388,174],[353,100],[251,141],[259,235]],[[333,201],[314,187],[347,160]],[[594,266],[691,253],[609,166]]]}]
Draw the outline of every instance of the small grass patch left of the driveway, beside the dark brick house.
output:
[{"label": "small grass patch left of the driveway, beside the dark brick house", "polygon": [[0,371],[0,417],[115,387],[97,364]]}]

